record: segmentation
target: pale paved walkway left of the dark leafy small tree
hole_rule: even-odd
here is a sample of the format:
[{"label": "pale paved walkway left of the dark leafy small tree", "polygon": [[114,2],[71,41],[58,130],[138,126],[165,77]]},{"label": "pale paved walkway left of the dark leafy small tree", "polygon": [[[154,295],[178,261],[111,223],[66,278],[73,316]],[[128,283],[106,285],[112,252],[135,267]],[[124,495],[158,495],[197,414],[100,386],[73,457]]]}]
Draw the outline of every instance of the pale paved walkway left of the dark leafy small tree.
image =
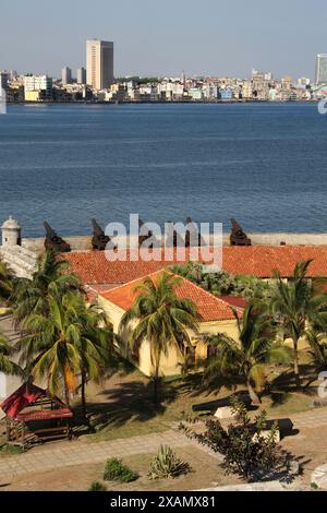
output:
[{"label": "pale paved walkway left of the dark leafy small tree", "polygon": [[[47,472],[71,465],[101,463],[109,457],[126,457],[135,454],[156,453],[160,444],[171,448],[194,445],[197,442],[184,434],[169,430],[110,442],[68,442],[60,448],[35,448],[17,456],[0,458],[0,485],[15,476],[34,472]],[[206,451],[207,452],[207,451]]]}]

